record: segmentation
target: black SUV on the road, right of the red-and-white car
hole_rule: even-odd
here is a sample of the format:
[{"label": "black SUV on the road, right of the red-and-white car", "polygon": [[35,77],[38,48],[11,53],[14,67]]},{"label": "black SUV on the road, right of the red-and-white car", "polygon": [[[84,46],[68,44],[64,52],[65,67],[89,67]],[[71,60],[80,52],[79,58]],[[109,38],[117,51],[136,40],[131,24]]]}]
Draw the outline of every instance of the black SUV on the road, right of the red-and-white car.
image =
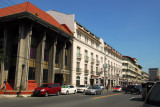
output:
[{"label": "black SUV on the road, right of the red-and-white car", "polygon": [[132,93],[136,93],[136,94],[141,94],[142,91],[142,87],[140,85],[128,85],[125,89],[125,93],[130,92]]}]

